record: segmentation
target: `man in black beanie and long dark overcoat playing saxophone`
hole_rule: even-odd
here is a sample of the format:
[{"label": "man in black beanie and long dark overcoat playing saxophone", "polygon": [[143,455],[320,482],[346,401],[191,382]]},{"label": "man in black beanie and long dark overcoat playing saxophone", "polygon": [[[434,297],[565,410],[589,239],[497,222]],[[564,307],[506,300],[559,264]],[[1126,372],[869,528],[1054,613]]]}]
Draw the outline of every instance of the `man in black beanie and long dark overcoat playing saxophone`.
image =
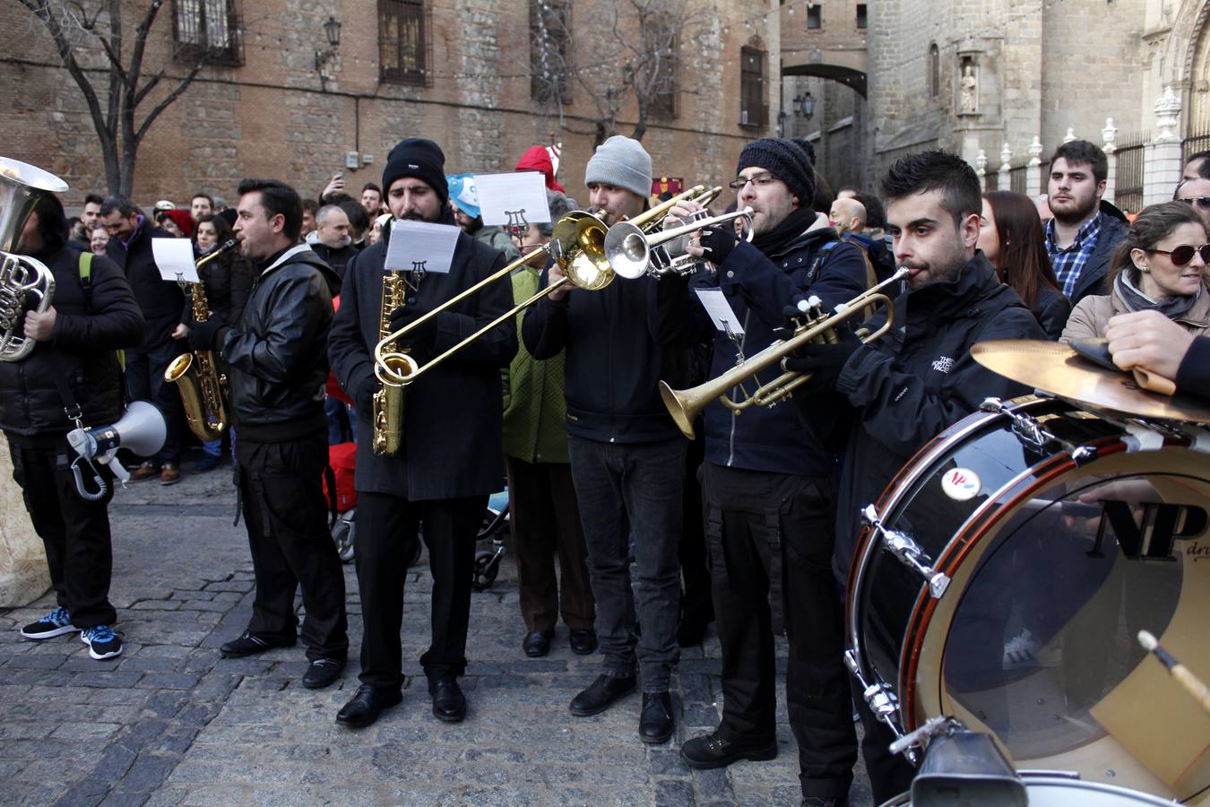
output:
[{"label": "man in black beanie and long dark overcoat playing saxophone", "polygon": [[[396,220],[454,224],[444,168],[445,155],[432,140],[407,139],[391,150],[382,188]],[[336,722],[351,728],[369,726],[402,699],[403,583],[419,520],[433,576],[432,642],[420,663],[433,715],[443,722],[466,716],[457,678],[466,669],[474,541],[488,496],[502,480],[500,370],[517,352],[517,329],[506,317],[392,393],[393,405],[380,404],[385,417],[402,409],[402,426],[386,425],[398,434],[380,432],[375,437],[384,439],[370,439],[375,396],[381,402],[384,392],[375,374],[378,342],[505,266],[500,252],[460,232],[449,273],[385,272],[391,237],[387,227],[381,241],[348,261],[329,342],[336,379],[357,404],[362,436],[356,477],[357,584],[365,628],[362,686],[336,715]],[[385,293],[399,294],[401,305],[391,310]],[[424,365],[505,315],[511,304],[507,279],[490,283],[413,328],[397,347]]]}]

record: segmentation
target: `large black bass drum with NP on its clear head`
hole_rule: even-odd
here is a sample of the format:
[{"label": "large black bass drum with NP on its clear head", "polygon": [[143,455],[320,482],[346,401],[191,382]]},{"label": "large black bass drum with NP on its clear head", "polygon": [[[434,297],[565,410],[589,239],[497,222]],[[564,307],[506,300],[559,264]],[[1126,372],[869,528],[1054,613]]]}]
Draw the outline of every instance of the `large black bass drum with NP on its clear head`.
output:
[{"label": "large black bass drum with NP on its clear head", "polygon": [[1135,639],[1210,676],[1208,451],[1204,430],[1037,397],[926,445],[848,581],[848,662],[875,710],[900,733],[955,716],[1018,768],[1210,792],[1210,717]]}]

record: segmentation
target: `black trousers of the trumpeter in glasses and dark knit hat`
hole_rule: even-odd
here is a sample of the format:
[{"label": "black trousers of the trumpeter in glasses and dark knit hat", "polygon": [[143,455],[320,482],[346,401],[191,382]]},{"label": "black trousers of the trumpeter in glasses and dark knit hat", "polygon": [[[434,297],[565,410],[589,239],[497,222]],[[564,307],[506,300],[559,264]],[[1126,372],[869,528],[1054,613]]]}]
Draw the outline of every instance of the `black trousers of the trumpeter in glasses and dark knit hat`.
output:
[{"label": "black trousers of the trumpeter in glasses and dark knit hat", "polygon": [[785,699],[802,795],[843,799],[853,780],[843,610],[831,572],[834,494],[826,477],[702,467],[705,535],[722,645],[724,738],[768,743],[776,730],[771,581],[782,581]]}]

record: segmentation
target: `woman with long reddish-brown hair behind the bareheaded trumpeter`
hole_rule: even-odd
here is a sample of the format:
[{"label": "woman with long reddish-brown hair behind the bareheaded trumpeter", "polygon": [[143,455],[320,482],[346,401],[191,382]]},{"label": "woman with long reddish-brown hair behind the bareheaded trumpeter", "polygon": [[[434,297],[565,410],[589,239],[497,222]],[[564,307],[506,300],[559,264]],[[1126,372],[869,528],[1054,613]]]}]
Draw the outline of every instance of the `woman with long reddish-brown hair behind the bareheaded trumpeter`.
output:
[{"label": "woman with long reddish-brown hair behind the bareheaded trumpeter", "polygon": [[1038,208],[1025,194],[993,190],[984,194],[975,244],[996,267],[1003,283],[1013,287],[1033,312],[1050,339],[1059,339],[1071,302],[1059,290],[1055,270],[1047,255]]}]

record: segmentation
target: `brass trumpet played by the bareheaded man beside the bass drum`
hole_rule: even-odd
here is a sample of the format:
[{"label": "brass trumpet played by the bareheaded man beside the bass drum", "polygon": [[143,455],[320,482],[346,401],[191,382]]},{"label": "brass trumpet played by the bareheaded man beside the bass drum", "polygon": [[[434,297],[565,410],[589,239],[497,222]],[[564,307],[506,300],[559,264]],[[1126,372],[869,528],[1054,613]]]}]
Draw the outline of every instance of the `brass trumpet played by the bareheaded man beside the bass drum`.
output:
[{"label": "brass trumpet played by the bareheaded man beside the bass drum", "polygon": [[[788,400],[793,397],[797,387],[811,379],[809,373],[785,370],[783,364],[782,369],[784,371],[782,375],[773,381],[759,385],[751,393],[744,390],[743,382],[749,376],[755,376],[773,364],[780,364],[790,353],[803,345],[811,342],[835,344],[837,340],[837,325],[848,322],[853,317],[862,316],[864,318],[865,312],[872,312],[872,309],[876,306],[886,307],[887,321],[872,333],[862,329],[858,334],[863,345],[869,345],[881,339],[891,330],[891,325],[894,322],[894,304],[889,296],[882,293],[882,289],[901,281],[906,276],[908,270],[899,267],[894,275],[877,286],[862,292],[848,302],[837,305],[830,315],[824,313],[819,304],[819,298],[809,298],[806,304],[800,304],[799,306],[799,310],[808,316],[808,319],[795,328],[793,336],[774,341],[755,356],[743,359],[722,375],[710,379],[705,384],[699,384],[687,390],[673,390],[667,382],[661,381],[659,397],[663,398],[664,405],[668,408],[668,414],[673,416],[673,420],[685,437],[693,439],[693,420],[715,398],[724,407],[737,413],[742,413],[749,407],[776,407],[780,402]],[[742,399],[733,400],[728,397],[727,392],[732,387],[739,388],[739,392],[743,393]]]}]

